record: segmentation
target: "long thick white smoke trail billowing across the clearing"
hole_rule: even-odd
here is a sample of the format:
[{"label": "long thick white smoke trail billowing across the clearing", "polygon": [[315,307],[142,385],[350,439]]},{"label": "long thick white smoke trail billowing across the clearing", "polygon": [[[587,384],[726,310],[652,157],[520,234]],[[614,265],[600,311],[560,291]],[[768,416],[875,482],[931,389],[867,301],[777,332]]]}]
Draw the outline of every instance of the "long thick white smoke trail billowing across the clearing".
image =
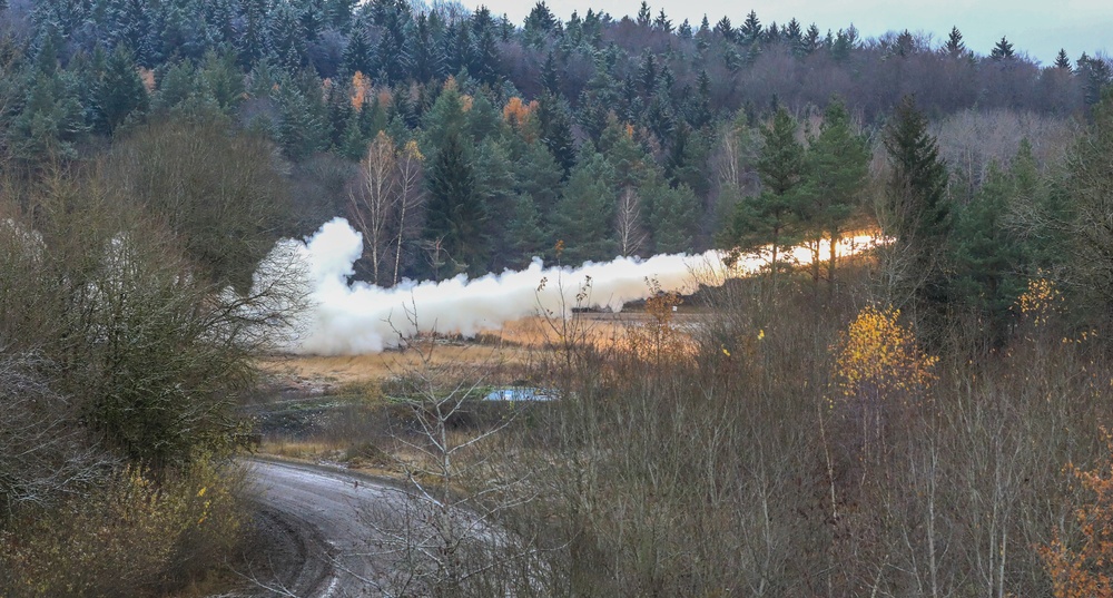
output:
[{"label": "long thick white smoke trail billowing across the clearing", "polygon": [[[860,249],[870,238],[845,241],[840,255]],[[353,264],[363,253],[363,238],[343,218],[334,218],[304,244],[294,246],[307,265],[312,292],[311,307],[301,322],[303,333],[288,349],[317,355],[376,353],[397,346],[400,335],[410,337],[417,332],[471,336],[539,312],[560,315],[572,307],[620,311],[623,304],[652,293],[648,280],[664,291],[687,292],[696,286],[693,271],[703,273],[703,282],[721,283],[732,275],[756,272],[765,263],[761,257],[752,257],[728,269],[717,251],[647,259],[620,257],[577,268],[543,267],[534,258],[521,272],[474,280],[460,275],[440,283],[407,281],[383,288],[349,283]],[[801,263],[811,259],[810,252],[804,248],[791,254]],[[585,293],[578,297],[582,291]]]}]

